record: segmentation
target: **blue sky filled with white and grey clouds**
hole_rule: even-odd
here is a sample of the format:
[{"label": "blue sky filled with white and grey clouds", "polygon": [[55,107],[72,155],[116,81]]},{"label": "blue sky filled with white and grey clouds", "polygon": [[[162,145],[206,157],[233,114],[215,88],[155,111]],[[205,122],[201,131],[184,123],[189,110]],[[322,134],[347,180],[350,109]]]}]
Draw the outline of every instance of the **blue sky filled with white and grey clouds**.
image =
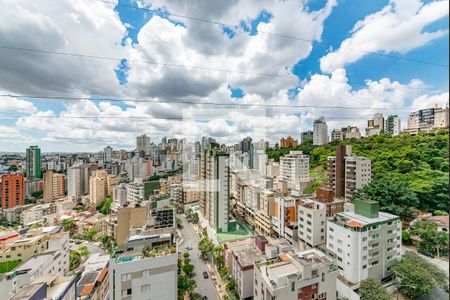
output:
[{"label": "blue sky filled with white and grey clouds", "polygon": [[0,151],[364,134],[449,100],[448,1],[0,1]]}]

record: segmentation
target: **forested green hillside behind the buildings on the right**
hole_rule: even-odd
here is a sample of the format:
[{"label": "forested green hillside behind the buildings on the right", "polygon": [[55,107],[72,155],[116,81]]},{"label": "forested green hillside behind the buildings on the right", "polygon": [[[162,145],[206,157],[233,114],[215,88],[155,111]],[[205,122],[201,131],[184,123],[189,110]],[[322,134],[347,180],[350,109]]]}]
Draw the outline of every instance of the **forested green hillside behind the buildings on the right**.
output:
[{"label": "forested green hillside behind the buildings on the right", "polygon": [[[365,194],[385,211],[401,215],[410,215],[414,208],[448,211],[448,130],[416,136],[382,134],[341,143],[351,144],[355,154],[372,160],[372,183],[356,197]],[[308,154],[314,179],[307,191],[312,192],[325,184],[327,156],[335,155],[337,144],[307,142],[293,149],[271,148],[267,154],[276,161],[290,150]]]}]

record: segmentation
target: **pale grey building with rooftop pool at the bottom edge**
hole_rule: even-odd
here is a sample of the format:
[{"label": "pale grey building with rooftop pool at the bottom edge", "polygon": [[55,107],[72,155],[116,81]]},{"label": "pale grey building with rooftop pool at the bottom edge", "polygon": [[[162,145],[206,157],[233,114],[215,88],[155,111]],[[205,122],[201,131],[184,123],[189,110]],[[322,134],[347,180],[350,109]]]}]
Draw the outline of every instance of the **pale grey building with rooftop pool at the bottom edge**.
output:
[{"label": "pale grey building with rooftop pool at the bottom edge", "polygon": [[158,249],[149,256],[127,251],[109,262],[112,300],[177,299],[178,254]]}]

